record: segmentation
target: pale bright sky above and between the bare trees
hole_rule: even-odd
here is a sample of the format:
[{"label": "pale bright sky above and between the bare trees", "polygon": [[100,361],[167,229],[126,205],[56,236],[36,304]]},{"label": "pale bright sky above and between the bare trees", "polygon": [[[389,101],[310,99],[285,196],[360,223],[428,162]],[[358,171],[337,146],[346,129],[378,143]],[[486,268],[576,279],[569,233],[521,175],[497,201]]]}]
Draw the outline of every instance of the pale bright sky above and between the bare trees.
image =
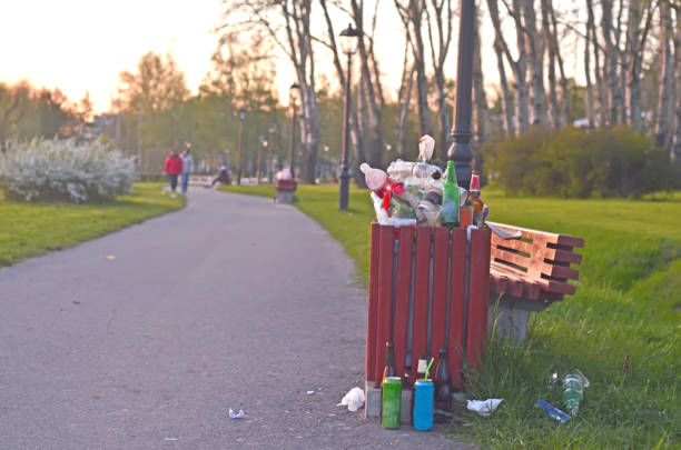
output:
[{"label": "pale bright sky above and between the bare trees", "polygon": [[[0,80],[26,78],[38,87],[58,87],[71,101],[81,99],[88,90],[96,111],[102,111],[109,108],[118,74],[136,71],[139,58],[151,50],[171,52],[196,92],[210,70],[210,54],[218,39],[211,30],[219,22],[221,9],[220,0],[2,0]],[[402,23],[392,1],[383,0],[381,9],[377,54],[386,83],[396,87],[404,50]],[[334,20],[336,32],[348,23],[340,13]],[[491,29],[486,22],[482,27],[484,41],[491,42],[493,37],[486,36]],[[485,82],[495,83],[494,54],[484,41]],[[456,76],[455,57],[453,46],[447,61],[451,78]],[[317,60],[317,72],[335,81],[328,53],[318,51]],[[293,80],[290,62],[278,60],[277,86],[283,101]]]}]

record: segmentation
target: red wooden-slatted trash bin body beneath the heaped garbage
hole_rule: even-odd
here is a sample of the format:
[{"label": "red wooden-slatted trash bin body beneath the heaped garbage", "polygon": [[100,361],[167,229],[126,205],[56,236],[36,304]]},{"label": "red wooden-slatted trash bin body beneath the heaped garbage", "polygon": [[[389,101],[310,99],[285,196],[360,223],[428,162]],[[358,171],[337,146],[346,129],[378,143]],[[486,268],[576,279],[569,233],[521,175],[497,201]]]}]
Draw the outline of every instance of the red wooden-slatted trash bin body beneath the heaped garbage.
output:
[{"label": "red wooden-slatted trash bin body beneath the heaped garbage", "polygon": [[[462,223],[470,223],[468,212]],[[468,220],[466,220],[468,219]],[[366,337],[367,386],[379,382],[385,342],[393,341],[395,371],[447,348],[452,383],[462,387],[463,360],[477,369],[487,336],[488,229],[372,223]],[[467,282],[466,282],[467,281]]]}]

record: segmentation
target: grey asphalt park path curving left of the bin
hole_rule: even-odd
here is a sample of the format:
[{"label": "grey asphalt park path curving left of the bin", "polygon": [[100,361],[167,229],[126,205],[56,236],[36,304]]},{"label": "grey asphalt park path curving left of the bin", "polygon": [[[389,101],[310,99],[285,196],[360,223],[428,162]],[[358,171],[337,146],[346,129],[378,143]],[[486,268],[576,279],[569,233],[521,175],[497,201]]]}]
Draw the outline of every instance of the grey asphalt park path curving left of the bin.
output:
[{"label": "grey asphalt park path curving left of the bin", "polygon": [[465,447],[336,407],[363,386],[365,297],[295,208],[190,190],[0,271],[0,449]]}]

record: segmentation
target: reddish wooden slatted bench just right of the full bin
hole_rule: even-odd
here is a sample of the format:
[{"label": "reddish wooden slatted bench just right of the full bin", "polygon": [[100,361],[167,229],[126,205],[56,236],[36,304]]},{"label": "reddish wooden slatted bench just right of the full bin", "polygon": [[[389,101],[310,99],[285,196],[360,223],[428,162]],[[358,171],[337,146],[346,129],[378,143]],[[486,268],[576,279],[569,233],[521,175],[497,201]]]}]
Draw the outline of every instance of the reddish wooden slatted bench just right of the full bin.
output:
[{"label": "reddish wooden slatted bench just right of the full bin", "polygon": [[[542,311],[552,302],[574,294],[576,287],[569,281],[578,280],[580,271],[571,264],[582,262],[582,254],[574,249],[584,247],[584,240],[506,223],[492,224],[521,233],[516,239],[502,239],[492,233],[490,302],[496,304],[503,294],[496,330],[523,340],[530,312]],[[490,308],[490,321],[493,311]]]}]

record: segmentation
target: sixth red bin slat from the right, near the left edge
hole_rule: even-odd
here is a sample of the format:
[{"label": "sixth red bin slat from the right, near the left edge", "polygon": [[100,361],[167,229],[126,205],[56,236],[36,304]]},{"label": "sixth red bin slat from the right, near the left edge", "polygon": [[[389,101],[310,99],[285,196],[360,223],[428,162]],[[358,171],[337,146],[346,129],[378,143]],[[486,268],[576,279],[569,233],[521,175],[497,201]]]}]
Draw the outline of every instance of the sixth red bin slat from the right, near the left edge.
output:
[{"label": "sixth red bin slat from the right, near the left edge", "polygon": [[383,378],[385,366],[385,343],[391,340],[391,318],[393,313],[393,254],[395,228],[382,226],[378,240],[378,319],[376,327],[376,359],[374,360],[374,381]]}]

